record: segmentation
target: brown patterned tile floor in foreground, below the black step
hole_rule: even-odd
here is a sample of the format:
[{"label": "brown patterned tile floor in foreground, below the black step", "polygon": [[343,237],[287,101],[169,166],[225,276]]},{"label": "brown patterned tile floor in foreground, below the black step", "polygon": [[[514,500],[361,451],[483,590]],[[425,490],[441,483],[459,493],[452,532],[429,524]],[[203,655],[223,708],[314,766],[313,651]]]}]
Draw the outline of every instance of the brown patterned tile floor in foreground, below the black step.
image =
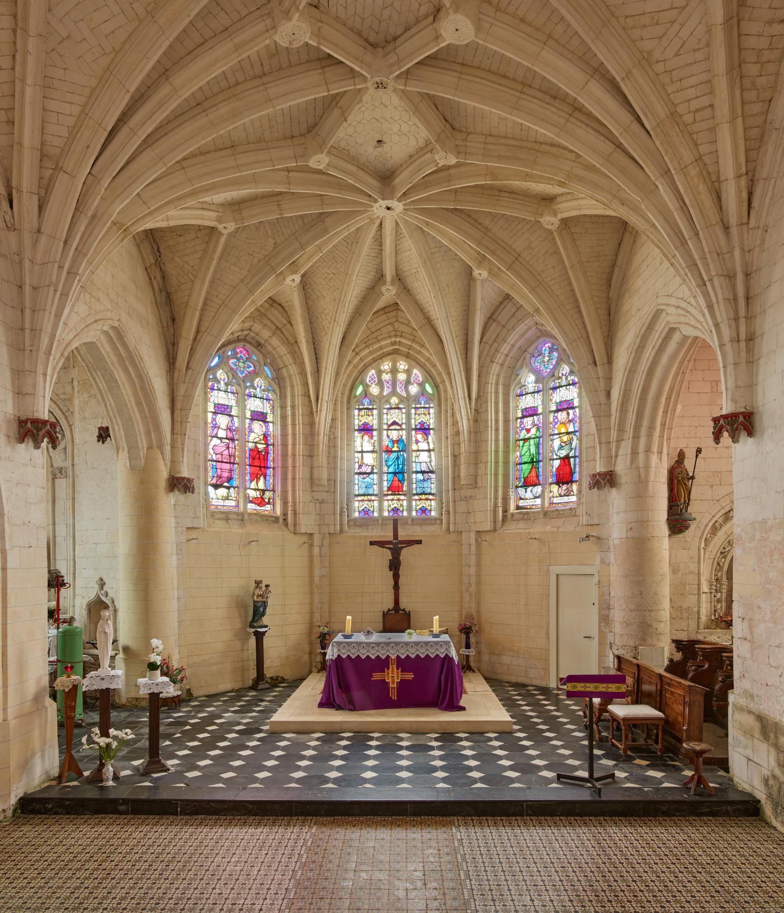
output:
[{"label": "brown patterned tile floor in foreground, below the black step", "polygon": [[17,815],[0,913],[784,909],[758,819]]}]

